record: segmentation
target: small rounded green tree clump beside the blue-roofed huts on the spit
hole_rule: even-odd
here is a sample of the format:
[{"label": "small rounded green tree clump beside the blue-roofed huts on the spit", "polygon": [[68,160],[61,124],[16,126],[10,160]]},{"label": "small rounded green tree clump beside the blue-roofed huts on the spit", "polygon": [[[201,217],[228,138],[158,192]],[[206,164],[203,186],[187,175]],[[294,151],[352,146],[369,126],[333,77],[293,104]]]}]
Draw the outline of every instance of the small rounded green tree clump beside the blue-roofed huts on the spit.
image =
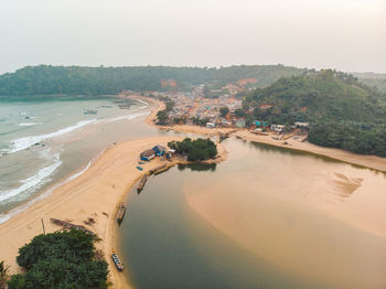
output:
[{"label": "small rounded green tree clump beside the blue-roofed huts on the spit", "polygon": [[189,161],[203,161],[217,156],[217,147],[210,139],[199,138],[192,141],[185,138],[182,141],[171,141],[168,147],[174,149],[176,153],[187,156]]}]

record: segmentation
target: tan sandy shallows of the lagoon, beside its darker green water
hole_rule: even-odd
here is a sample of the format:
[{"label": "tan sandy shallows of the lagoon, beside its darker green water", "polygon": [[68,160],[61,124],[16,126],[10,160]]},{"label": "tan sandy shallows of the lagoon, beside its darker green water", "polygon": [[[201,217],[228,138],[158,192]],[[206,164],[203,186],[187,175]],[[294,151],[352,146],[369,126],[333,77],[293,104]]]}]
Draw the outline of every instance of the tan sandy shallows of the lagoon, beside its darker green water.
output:
[{"label": "tan sandy shallows of the lagoon, beside its darker green water", "polygon": [[250,254],[318,288],[385,288],[384,173],[236,144],[227,142],[229,158],[211,181],[184,183],[193,212]]}]

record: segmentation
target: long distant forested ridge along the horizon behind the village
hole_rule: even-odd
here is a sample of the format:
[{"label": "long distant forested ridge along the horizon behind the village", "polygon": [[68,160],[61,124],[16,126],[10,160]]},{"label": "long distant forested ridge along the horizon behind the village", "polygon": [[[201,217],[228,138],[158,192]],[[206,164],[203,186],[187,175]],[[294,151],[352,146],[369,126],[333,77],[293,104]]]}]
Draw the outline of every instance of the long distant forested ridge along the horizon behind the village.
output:
[{"label": "long distant forested ridge along the horizon behind the village", "polygon": [[[124,89],[143,92],[168,89],[162,81],[172,81],[173,88],[185,89],[194,84],[236,83],[254,78],[256,86],[267,86],[281,77],[300,75],[304,69],[283,65],[242,65],[222,68],[133,66],[26,66],[0,76],[0,95],[106,95]],[[175,81],[175,82],[174,82]],[[175,86],[175,87],[174,87]]]}]

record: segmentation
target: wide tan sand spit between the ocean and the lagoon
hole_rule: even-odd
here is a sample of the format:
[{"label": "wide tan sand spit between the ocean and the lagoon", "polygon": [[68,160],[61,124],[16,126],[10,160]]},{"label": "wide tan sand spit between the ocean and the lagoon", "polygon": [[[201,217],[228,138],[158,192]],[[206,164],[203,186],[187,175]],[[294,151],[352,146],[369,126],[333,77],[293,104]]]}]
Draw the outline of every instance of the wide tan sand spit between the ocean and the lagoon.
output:
[{"label": "wide tan sand spit between the ocean and the lagoon", "polygon": [[[158,143],[165,144],[170,140],[171,137],[158,137],[116,144],[106,150],[81,176],[60,186],[44,200],[1,224],[0,256],[11,265],[10,272],[20,271],[14,259],[19,247],[43,233],[42,218],[46,233],[60,229],[50,222],[51,217],[77,225],[85,225],[84,221],[94,218],[96,222],[94,225],[85,226],[101,238],[97,247],[109,256],[116,244],[114,231],[117,205],[143,174],[136,168],[139,153]],[[157,158],[146,163],[143,169],[150,170],[164,162]],[[114,249],[118,250],[118,247]],[[127,288],[124,274],[117,274],[110,258],[107,260],[110,265],[110,280],[116,285],[115,288]]]}]

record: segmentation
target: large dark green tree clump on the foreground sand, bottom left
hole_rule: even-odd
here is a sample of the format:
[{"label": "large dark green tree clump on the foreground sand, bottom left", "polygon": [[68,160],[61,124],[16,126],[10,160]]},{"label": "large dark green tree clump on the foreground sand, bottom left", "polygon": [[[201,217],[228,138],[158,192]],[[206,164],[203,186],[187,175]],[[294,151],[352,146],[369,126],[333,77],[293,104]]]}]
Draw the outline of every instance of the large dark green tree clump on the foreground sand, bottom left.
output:
[{"label": "large dark green tree clump on the foreground sand, bottom left", "polygon": [[26,272],[13,275],[9,289],[107,288],[107,263],[95,259],[94,238],[77,229],[34,237],[17,257]]}]

